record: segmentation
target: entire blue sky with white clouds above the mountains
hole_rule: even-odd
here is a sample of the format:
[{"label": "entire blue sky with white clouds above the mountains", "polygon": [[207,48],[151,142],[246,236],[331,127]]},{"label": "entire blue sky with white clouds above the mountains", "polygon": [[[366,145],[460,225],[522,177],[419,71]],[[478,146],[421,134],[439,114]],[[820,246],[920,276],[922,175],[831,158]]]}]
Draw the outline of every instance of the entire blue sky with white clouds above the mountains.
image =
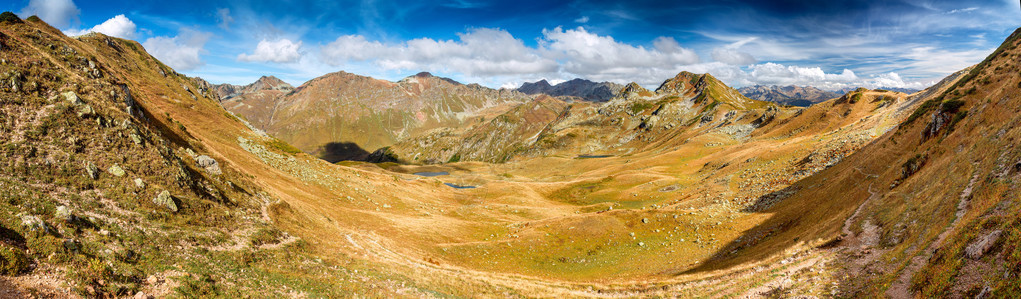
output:
[{"label": "entire blue sky with white clouds above the mountains", "polygon": [[489,87],[573,78],[654,88],[681,70],[729,85],[923,88],[1017,27],[987,1],[15,0],[70,35],[141,42],[183,73],[293,85],[345,70]]}]

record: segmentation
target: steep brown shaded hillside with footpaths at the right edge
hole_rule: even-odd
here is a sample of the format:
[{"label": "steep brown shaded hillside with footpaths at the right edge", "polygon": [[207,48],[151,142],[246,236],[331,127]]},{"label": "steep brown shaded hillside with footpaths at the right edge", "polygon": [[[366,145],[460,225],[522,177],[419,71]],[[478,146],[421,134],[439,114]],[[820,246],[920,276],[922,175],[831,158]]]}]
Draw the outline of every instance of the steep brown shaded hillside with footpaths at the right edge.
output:
[{"label": "steep brown shaded hillside with footpaths at the right edge", "polygon": [[933,97],[894,131],[794,184],[748,233],[769,237],[728,244],[736,253],[702,269],[801,251],[831,255],[843,296],[1016,297],[1019,39],[921,92]]}]

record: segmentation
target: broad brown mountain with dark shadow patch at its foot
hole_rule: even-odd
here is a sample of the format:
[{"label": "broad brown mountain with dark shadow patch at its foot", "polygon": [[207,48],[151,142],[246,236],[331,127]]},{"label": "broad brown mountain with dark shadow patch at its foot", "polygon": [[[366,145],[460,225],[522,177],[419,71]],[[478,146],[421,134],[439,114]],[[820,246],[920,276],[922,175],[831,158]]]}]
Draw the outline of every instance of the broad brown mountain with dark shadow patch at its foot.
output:
[{"label": "broad brown mountain with dark shadow patch at its foot", "polygon": [[338,71],[297,88],[262,77],[247,86],[216,85],[213,90],[227,110],[328,161],[366,159],[396,141],[533,98],[426,71],[397,82]]}]

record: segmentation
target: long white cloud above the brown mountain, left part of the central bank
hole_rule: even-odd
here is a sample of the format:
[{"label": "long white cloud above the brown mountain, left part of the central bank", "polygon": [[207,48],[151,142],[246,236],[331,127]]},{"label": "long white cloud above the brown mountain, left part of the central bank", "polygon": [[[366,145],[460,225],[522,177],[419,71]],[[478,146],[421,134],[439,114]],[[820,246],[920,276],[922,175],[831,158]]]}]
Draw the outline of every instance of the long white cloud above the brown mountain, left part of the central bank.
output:
[{"label": "long white cloud above the brown mountain, left part of the central bank", "polygon": [[555,61],[541,57],[506,31],[474,29],[457,37],[456,41],[421,38],[383,44],[362,36],[342,36],[325,45],[321,53],[331,65],[372,60],[384,69],[447,70],[470,77],[556,70]]}]

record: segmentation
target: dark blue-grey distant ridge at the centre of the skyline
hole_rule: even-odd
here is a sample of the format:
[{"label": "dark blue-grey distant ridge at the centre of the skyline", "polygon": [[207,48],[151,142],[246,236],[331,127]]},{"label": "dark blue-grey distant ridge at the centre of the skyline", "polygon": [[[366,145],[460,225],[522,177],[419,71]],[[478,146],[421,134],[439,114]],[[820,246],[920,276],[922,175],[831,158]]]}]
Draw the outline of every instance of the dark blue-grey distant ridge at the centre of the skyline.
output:
[{"label": "dark blue-grey distant ridge at the centre of the skyline", "polygon": [[586,101],[605,102],[621,94],[624,85],[584,79],[574,79],[557,85],[549,85],[546,80],[522,84],[517,90],[527,95],[545,94],[552,97],[576,97]]}]

